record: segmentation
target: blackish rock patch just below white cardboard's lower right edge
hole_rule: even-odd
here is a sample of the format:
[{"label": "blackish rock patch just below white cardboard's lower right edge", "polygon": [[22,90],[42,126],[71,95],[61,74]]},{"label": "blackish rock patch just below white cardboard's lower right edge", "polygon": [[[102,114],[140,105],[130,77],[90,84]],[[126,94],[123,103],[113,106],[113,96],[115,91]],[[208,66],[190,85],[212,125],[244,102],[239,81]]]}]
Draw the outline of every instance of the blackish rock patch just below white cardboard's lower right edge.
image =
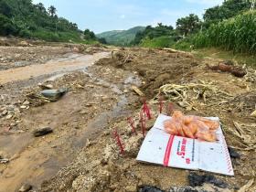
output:
[{"label": "blackish rock patch just below white cardboard's lower right edge", "polygon": [[215,176],[205,174],[202,176],[197,175],[196,173],[190,173],[188,175],[189,185],[191,187],[203,186],[205,183],[212,184],[216,187],[226,188],[228,184],[223,181],[220,181]]}]

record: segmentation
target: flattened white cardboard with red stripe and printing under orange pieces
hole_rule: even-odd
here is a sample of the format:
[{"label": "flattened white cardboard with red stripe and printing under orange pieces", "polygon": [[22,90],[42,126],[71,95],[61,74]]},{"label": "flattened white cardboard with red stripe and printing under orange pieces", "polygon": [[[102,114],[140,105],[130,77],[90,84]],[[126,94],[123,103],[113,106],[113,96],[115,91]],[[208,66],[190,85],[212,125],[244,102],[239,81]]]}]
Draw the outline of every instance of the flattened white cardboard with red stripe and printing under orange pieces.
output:
[{"label": "flattened white cardboard with red stripe and printing under orange pieces", "polygon": [[[229,150],[219,127],[218,142],[210,143],[165,133],[164,122],[171,117],[160,114],[146,134],[138,161],[191,170],[204,170],[234,176]],[[209,117],[218,120],[217,117]]]}]

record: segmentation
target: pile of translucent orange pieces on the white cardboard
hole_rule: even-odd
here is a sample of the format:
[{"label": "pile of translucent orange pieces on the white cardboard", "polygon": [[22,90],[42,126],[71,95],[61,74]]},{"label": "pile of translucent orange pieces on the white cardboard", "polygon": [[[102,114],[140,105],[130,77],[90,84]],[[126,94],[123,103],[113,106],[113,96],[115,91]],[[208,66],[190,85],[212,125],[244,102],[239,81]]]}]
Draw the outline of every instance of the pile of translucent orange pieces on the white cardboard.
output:
[{"label": "pile of translucent orange pieces on the white cardboard", "polygon": [[216,130],[219,128],[219,122],[203,117],[186,116],[180,111],[175,111],[172,119],[166,120],[164,126],[167,133],[215,142],[217,140]]}]

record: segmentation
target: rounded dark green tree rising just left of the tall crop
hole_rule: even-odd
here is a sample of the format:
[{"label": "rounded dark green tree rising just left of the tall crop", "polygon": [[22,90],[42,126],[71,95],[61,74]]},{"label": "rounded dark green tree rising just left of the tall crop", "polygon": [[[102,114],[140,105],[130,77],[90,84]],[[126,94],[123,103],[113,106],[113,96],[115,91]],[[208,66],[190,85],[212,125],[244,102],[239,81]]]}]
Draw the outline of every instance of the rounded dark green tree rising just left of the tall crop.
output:
[{"label": "rounded dark green tree rising just left of the tall crop", "polygon": [[182,17],[176,21],[176,29],[182,34],[187,36],[197,32],[201,27],[201,22],[197,15],[190,14],[189,16]]}]

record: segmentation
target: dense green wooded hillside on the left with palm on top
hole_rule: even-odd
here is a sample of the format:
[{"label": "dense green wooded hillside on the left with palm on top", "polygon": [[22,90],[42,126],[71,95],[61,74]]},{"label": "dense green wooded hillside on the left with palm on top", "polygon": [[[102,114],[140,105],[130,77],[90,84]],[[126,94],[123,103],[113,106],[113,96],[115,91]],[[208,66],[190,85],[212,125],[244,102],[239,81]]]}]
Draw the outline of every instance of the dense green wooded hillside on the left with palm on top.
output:
[{"label": "dense green wooded hillside on the left with palm on top", "polygon": [[32,0],[0,0],[0,36],[39,38],[47,41],[91,42],[95,38],[81,38],[77,24],[57,16],[57,9],[48,11]]}]

